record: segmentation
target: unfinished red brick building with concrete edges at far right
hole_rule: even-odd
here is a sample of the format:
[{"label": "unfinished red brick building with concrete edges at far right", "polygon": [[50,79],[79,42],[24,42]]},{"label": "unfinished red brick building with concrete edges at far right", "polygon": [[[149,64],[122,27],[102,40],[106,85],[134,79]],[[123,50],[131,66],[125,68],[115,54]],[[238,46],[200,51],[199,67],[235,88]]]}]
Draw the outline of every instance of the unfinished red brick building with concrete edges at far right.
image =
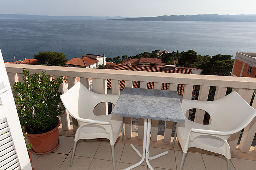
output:
[{"label": "unfinished red brick building with concrete edges at far right", "polygon": [[231,76],[256,77],[256,53],[236,53]]}]

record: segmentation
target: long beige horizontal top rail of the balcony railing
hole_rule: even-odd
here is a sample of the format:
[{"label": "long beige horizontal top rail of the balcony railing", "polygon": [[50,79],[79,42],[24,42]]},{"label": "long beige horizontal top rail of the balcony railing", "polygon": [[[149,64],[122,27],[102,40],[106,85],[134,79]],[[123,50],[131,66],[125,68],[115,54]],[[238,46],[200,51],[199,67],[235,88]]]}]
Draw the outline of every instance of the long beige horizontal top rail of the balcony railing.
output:
[{"label": "long beige horizontal top rail of the balcony railing", "polygon": [[31,73],[40,73],[41,71],[45,71],[46,74],[51,74],[54,76],[256,89],[256,78],[253,77],[141,72],[8,63],[5,64],[5,67],[8,73],[22,73],[23,68],[25,68]]}]

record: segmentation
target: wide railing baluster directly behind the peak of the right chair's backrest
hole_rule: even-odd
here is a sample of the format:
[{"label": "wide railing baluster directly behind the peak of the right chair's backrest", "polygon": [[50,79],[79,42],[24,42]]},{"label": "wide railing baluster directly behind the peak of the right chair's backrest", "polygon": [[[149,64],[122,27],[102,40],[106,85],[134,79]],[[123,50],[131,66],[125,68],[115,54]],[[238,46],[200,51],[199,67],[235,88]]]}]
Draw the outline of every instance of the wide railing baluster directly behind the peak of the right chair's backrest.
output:
[{"label": "wide railing baluster directly behind the peak of the right chair's backrest", "polygon": [[[236,91],[247,103],[250,103],[251,98],[252,98],[252,94],[254,92],[254,89],[233,88],[232,92],[233,91]],[[228,138],[227,142],[228,142],[228,144],[230,146],[231,152],[235,152],[236,151],[236,146],[237,146],[240,134],[241,134],[241,130],[239,132],[237,132],[237,133],[232,134]],[[243,147],[242,145],[240,147]]]}]

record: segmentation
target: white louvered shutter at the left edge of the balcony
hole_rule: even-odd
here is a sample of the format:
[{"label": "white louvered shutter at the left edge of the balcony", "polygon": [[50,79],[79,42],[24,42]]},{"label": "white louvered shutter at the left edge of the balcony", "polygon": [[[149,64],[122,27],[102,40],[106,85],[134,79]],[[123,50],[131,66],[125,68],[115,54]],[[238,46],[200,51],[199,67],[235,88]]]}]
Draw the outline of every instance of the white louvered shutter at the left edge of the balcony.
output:
[{"label": "white louvered shutter at the left edge of the balcony", "polygon": [[0,169],[32,170],[0,49]]}]

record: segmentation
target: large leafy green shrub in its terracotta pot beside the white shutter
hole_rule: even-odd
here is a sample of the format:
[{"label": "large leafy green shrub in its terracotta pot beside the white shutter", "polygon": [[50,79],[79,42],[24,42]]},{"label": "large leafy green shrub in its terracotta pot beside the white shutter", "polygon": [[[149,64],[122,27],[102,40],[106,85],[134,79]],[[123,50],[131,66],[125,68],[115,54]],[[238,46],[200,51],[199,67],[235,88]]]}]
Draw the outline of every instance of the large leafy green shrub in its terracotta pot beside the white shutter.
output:
[{"label": "large leafy green shrub in its terracotta pot beside the white shutter", "polygon": [[63,77],[52,79],[45,72],[31,75],[25,69],[22,75],[24,82],[12,87],[20,123],[26,128],[34,154],[52,152],[59,145],[58,115],[63,109],[59,107],[62,93],[58,89]]}]

